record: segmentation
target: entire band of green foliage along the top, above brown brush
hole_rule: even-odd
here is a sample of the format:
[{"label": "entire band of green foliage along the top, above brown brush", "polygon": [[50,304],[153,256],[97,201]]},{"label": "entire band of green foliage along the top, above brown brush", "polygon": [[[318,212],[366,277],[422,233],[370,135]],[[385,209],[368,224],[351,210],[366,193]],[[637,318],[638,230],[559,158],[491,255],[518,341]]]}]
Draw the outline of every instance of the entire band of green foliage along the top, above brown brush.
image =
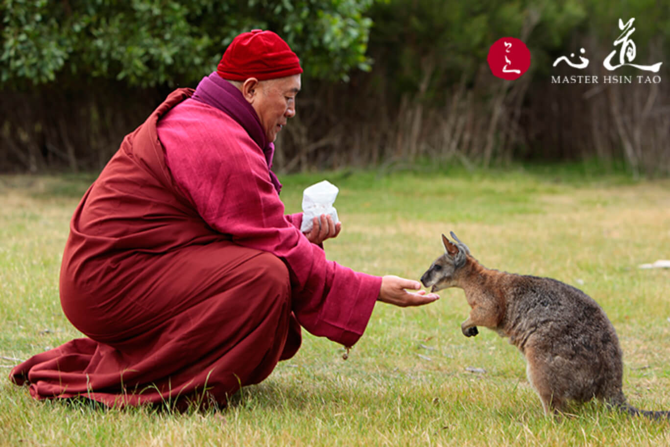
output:
[{"label": "entire band of green foliage along the top, above brown brush", "polygon": [[490,44],[504,36],[525,40],[531,72],[547,74],[551,60],[574,50],[577,34],[588,30],[609,46],[618,19],[636,17],[634,38],[644,55],[654,36],[663,36],[661,45],[669,39],[670,6],[661,3],[0,0],[0,86],[61,75],[75,84],[88,77],[132,86],[191,84],[214,69],[237,34],[262,28],[289,43],[306,76],[348,80],[352,70],[370,70],[372,56],[383,61],[377,76],[389,78],[393,92],[414,93],[427,82],[421,96],[441,100],[447,86],[472,82]]}]

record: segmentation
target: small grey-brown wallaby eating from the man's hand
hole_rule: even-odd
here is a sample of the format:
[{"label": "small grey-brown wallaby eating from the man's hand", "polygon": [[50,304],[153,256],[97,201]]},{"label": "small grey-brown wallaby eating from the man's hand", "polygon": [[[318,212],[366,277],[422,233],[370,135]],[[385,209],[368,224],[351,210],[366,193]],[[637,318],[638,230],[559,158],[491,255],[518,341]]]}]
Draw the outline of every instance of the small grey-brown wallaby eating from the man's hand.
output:
[{"label": "small grey-brown wallaby eating from the man's hand", "polygon": [[590,296],[556,279],[487,269],[451,233],[442,235],[444,255],[421,276],[431,292],[458,287],[472,308],[461,324],[465,336],[485,326],[509,337],[525,355],[526,374],[545,414],[567,401],[596,397],[630,415],[670,418],[669,411],[645,411],[626,403],[623,361],[614,326]]}]

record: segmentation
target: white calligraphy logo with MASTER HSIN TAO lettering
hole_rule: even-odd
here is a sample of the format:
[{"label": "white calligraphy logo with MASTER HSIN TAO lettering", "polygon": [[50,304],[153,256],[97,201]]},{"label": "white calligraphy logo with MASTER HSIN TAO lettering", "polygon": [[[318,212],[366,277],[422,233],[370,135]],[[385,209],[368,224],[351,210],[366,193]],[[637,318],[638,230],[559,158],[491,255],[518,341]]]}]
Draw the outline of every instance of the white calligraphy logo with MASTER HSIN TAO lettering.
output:
[{"label": "white calligraphy logo with MASTER HSIN TAO lettering", "polygon": [[[604,66],[607,70],[609,71],[614,71],[617,68],[621,68],[622,66],[630,66],[633,68],[637,68],[638,70],[643,70],[643,71],[648,71],[648,72],[653,72],[657,73],[661,69],[661,65],[663,62],[657,62],[656,64],[652,65],[639,65],[639,64],[633,64],[632,61],[634,60],[637,52],[636,52],[636,46],[635,43],[632,41],[632,38],[630,37],[631,34],[634,33],[635,28],[632,27],[632,23],[635,21],[635,18],[632,17],[632,19],[628,20],[626,23],[622,21],[622,19],[619,19],[619,29],[622,30],[622,33],[619,35],[616,40],[614,40],[614,47],[616,48],[617,46],[620,46],[618,49],[618,58],[615,60],[615,56],[617,54],[617,50],[612,50],[610,54],[605,58],[605,60],[602,62],[602,66]],[[583,70],[584,68],[588,67],[588,64],[590,60],[586,58],[586,50],[584,48],[580,48],[580,56],[579,56],[579,61],[575,60],[575,54],[571,53],[570,57],[568,58],[567,56],[561,56],[557,58],[555,61],[553,61],[553,66],[557,66],[561,62],[571,66],[572,68],[577,68],[578,70]],[[602,83],[603,84],[630,84],[633,80],[633,78],[636,78],[637,82],[641,84],[658,84],[661,82],[661,76],[655,75],[655,76],[649,76],[649,75],[638,75],[638,76],[603,76],[602,77]],[[598,84],[598,76],[595,75],[571,75],[571,76],[551,76],[551,83],[552,84],[581,84],[582,82],[587,83],[587,84]]]}]

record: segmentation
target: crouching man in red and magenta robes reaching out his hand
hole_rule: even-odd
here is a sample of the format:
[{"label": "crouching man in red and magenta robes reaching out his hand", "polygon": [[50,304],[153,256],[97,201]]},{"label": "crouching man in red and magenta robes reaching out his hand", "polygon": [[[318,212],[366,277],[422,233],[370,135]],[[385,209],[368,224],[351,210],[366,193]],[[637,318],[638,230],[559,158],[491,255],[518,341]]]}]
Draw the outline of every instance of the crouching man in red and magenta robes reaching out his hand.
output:
[{"label": "crouching man in red and magenta robes reaching out his hand", "polygon": [[273,141],[295,115],[302,67],[272,31],[232,41],[197,88],[179,88],[78,204],[60,300],[86,337],[17,365],[36,399],[110,407],[226,405],[295,355],[301,328],[352,346],[375,302],[437,300],[418,281],[326,259],[341,224],[285,215]]}]

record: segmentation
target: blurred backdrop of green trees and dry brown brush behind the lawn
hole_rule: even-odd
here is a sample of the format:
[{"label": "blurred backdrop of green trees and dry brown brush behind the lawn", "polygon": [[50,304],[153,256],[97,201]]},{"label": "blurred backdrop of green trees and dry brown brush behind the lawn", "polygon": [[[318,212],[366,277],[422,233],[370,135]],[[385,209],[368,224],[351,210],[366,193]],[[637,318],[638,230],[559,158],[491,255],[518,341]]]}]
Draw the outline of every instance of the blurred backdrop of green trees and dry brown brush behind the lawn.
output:
[{"label": "blurred backdrop of green trees and dry brown brush behind the lawn", "polygon": [[[305,69],[277,152],[287,170],[600,157],[670,172],[667,82],[551,82],[575,74],[553,61],[580,48],[590,64],[578,74],[647,74],[602,65],[632,17],[634,62],[663,62],[667,80],[665,0],[0,0],[0,14],[0,170],[103,166],[169,90],[194,86],[232,38],[262,28]],[[531,51],[513,82],[486,62],[506,36]]]}]

